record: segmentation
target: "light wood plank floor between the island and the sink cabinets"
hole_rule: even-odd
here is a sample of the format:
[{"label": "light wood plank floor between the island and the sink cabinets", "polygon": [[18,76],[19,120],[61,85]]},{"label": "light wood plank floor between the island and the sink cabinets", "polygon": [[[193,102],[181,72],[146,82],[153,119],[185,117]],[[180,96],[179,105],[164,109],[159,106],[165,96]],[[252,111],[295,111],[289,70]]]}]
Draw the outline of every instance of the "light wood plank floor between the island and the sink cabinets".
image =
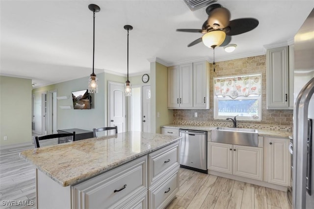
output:
[{"label": "light wood plank floor between the island and the sink cabinets", "polygon": [[180,168],[180,190],[166,209],[291,209],[287,193]]}]

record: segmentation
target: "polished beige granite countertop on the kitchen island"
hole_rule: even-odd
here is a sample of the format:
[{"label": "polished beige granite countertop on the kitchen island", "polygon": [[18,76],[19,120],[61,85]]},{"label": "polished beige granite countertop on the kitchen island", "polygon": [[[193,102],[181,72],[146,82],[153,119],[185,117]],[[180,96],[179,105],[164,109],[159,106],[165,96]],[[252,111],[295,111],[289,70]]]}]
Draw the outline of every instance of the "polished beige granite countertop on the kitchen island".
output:
[{"label": "polished beige granite countertop on the kitchen island", "polygon": [[179,140],[144,132],[91,138],[26,150],[20,157],[61,186],[84,180],[128,163]]}]

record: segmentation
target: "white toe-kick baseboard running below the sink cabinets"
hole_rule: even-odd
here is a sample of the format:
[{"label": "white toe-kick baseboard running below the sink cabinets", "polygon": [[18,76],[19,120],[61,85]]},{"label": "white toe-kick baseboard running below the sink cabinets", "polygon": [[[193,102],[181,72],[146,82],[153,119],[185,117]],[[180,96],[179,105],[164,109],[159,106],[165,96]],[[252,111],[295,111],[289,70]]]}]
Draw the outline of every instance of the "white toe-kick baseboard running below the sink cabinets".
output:
[{"label": "white toe-kick baseboard running below the sink cabinets", "polygon": [[260,180],[249,179],[249,178],[245,178],[242,176],[235,176],[235,175],[231,175],[228,173],[222,173],[222,172],[213,171],[213,170],[208,170],[208,173],[211,175],[215,175],[215,176],[233,179],[236,181],[241,181],[241,182],[245,182],[245,183],[249,183],[249,184],[253,184],[253,185],[273,188],[273,189],[277,189],[277,190],[281,190],[281,191],[287,191],[287,188],[288,188],[288,186],[275,185],[275,184],[271,184],[271,183],[260,181]]}]

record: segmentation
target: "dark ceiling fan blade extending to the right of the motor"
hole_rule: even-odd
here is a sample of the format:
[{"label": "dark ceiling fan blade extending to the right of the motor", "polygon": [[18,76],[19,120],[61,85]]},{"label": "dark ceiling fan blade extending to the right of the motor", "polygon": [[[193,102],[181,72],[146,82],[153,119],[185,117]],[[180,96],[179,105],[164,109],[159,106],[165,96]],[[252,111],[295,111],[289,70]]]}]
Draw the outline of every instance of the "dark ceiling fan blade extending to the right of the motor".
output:
[{"label": "dark ceiling fan blade extending to the right of the motor", "polygon": [[230,27],[230,31],[226,31],[226,34],[229,36],[234,36],[241,33],[246,33],[250,30],[253,30],[258,25],[259,21],[254,18],[235,19],[229,22],[228,27]]}]

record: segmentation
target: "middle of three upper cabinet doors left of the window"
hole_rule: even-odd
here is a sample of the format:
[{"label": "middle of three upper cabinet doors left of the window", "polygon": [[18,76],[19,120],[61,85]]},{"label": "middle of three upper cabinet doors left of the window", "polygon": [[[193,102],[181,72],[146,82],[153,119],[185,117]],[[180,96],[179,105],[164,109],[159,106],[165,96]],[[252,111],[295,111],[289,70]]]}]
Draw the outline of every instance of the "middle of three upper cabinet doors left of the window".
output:
[{"label": "middle of three upper cabinet doors left of the window", "polygon": [[180,108],[193,107],[193,65],[180,66]]}]

